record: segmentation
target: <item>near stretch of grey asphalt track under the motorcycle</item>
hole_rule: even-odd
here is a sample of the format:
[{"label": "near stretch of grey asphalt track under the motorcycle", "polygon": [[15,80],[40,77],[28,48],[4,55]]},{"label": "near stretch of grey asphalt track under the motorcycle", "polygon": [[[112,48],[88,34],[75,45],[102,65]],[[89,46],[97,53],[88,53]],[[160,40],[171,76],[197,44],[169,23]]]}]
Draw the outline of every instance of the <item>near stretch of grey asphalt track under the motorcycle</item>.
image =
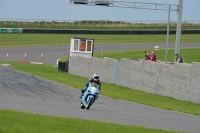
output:
[{"label": "near stretch of grey asphalt track under the motorcycle", "polygon": [[78,89],[0,66],[0,108],[174,131],[200,132],[199,116],[104,96],[99,96],[90,110],[82,110],[79,96]]}]

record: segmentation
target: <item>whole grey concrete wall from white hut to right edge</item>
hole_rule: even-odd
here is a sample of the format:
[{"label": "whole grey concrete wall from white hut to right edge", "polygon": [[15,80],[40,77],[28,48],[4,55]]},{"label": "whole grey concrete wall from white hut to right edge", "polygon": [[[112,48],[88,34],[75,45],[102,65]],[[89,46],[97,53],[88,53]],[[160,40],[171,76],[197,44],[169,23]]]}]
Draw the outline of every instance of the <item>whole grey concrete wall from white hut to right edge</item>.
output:
[{"label": "whole grey concrete wall from white hut to right edge", "polygon": [[[120,65],[119,65],[120,63]],[[162,64],[157,62],[70,57],[69,73],[101,80],[131,89],[200,103],[200,63]]]}]

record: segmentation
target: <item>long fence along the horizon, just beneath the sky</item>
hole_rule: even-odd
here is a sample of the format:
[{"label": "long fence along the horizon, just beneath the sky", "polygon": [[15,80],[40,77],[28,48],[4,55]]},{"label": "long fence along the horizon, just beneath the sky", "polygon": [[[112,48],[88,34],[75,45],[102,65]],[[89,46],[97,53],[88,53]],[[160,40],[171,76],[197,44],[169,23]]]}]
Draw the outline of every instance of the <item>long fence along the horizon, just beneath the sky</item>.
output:
[{"label": "long fence along the horizon, just beneath the sky", "polygon": [[[176,21],[170,22],[175,26]],[[186,26],[200,25],[200,20],[185,20],[182,22]],[[49,19],[11,19],[0,18],[1,25],[43,25],[43,26],[112,26],[112,27],[129,27],[129,26],[165,26],[167,21],[112,21],[112,20],[49,20]]]}]

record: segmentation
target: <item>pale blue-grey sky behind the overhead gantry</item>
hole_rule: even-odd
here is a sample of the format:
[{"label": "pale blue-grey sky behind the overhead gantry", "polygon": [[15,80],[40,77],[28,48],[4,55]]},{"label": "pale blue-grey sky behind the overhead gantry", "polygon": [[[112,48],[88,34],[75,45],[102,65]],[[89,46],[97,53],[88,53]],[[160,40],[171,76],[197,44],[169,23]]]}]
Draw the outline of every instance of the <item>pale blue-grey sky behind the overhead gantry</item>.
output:
[{"label": "pale blue-grey sky behind the overhead gantry", "polygon": [[[80,6],[69,4],[69,1],[70,0],[0,0],[0,18],[156,21],[167,20],[168,14],[166,11]],[[179,0],[132,1],[178,4]],[[200,0],[184,0],[183,20],[200,21],[199,13]],[[171,20],[177,20],[176,12],[171,12]]]}]

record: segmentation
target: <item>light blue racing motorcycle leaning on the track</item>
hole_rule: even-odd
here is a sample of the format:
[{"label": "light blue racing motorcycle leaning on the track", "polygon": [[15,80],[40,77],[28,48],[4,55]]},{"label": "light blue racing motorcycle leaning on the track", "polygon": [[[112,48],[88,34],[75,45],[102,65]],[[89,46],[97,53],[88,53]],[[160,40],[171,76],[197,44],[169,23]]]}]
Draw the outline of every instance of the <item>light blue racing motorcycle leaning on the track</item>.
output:
[{"label": "light blue racing motorcycle leaning on the track", "polygon": [[82,109],[90,109],[90,106],[97,100],[99,94],[99,85],[96,83],[89,83],[87,90],[83,93],[81,98]]}]

